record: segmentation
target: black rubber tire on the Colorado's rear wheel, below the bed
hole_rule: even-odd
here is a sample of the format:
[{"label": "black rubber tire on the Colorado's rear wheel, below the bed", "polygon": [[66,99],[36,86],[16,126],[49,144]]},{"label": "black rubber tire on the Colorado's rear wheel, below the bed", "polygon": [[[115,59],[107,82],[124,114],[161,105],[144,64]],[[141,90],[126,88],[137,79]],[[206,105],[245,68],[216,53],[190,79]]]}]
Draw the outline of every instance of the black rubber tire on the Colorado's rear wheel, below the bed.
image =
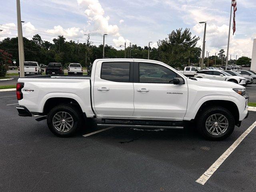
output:
[{"label": "black rubber tire on the Colorado's rear wheel, below the bed", "polygon": [[[60,121],[62,122],[62,125],[60,125],[60,130],[58,130],[58,128],[56,128],[57,126],[54,127],[53,121],[57,120],[56,117],[61,116],[58,114],[60,112],[66,113],[66,117],[68,117],[68,118],[69,118],[69,116],[71,116],[73,123],[70,123],[68,121],[63,122],[63,120],[62,120],[62,118],[64,116],[63,115],[62,118],[59,118]],[[65,120],[65,116],[64,116],[64,120]],[[73,136],[76,133],[76,131],[82,126],[82,121],[83,121],[82,112],[80,112],[80,110],[76,106],[69,105],[69,104],[60,104],[58,106],[55,106],[54,108],[52,108],[52,110],[50,110],[50,112],[47,116],[48,128],[50,129],[50,131],[53,134],[55,134],[56,136],[59,136],[59,137]],[[66,125],[65,125],[65,122],[66,122]],[[57,125],[57,124],[55,124],[55,125]],[[68,128],[68,126],[69,126],[69,128]],[[63,128],[63,130],[62,130],[62,128]]]}]

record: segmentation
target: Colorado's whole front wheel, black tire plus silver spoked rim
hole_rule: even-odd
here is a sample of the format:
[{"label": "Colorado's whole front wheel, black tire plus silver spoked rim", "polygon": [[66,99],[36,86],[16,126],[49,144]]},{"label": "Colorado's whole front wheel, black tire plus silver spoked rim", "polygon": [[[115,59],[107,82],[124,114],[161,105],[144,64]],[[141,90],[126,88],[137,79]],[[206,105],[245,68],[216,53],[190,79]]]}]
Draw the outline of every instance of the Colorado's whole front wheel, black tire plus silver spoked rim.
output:
[{"label": "Colorado's whole front wheel, black tire plus silver spoked rim", "polygon": [[232,134],[234,127],[234,116],[221,106],[206,108],[197,118],[198,131],[208,140],[223,140]]}]

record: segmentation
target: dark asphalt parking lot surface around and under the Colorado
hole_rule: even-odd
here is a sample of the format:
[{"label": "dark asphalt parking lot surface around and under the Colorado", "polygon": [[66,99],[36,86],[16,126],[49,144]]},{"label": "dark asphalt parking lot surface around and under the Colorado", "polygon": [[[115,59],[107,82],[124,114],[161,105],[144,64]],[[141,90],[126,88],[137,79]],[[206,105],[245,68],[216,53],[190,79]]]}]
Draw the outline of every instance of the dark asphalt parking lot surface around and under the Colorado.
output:
[{"label": "dark asphalt parking lot surface around and under the Colorado", "polygon": [[256,121],[256,112],[224,141],[184,130],[102,129],[90,120],[58,138],[46,120],[20,117],[14,91],[0,92],[0,191],[255,191],[256,128],[204,184],[196,180]]}]

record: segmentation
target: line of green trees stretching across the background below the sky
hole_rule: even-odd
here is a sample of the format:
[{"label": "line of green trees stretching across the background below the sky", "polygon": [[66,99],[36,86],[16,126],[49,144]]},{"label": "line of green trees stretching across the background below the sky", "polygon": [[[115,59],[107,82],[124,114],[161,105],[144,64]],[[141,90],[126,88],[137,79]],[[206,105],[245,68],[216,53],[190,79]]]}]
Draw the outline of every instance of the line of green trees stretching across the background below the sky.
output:
[{"label": "line of green trees stretching across the background below the sky", "polygon": [[[175,68],[183,68],[190,64],[200,63],[201,48],[196,47],[200,38],[192,36],[190,29],[182,28],[173,30],[164,40],[157,42],[158,48],[150,47],[150,59],[164,62]],[[42,40],[36,34],[31,40],[23,38],[25,61],[36,61],[40,64],[48,65],[50,62],[60,62],[64,65],[80,63],[88,66],[95,59],[102,58],[103,45],[96,46],[90,41],[90,34],[86,42],[67,41],[64,36],[54,38],[52,42]],[[5,38],[0,41],[0,50],[11,54],[12,60],[16,60],[18,65],[18,37]],[[124,58],[124,50],[117,50],[114,46],[105,45],[105,57]],[[148,58],[148,47],[132,44],[131,48],[126,48],[126,58]],[[214,56],[209,57],[209,66],[214,64]],[[224,50],[216,57],[216,64],[224,64],[226,61]],[[239,59],[238,59],[239,60]],[[204,63],[207,63],[207,58]],[[239,63],[238,61],[236,63]]]}]

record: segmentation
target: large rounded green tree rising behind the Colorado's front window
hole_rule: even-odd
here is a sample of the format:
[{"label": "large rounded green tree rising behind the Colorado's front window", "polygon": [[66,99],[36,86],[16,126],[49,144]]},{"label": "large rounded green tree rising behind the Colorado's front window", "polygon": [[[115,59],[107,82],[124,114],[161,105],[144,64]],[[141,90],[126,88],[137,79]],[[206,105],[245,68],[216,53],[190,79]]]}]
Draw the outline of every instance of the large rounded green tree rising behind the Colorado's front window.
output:
[{"label": "large rounded green tree rising behind the Colorado's front window", "polygon": [[191,36],[190,29],[173,30],[164,40],[158,41],[159,60],[170,66],[184,66],[188,60],[199,61],[200,48],[196,43],[200,38]]}]

